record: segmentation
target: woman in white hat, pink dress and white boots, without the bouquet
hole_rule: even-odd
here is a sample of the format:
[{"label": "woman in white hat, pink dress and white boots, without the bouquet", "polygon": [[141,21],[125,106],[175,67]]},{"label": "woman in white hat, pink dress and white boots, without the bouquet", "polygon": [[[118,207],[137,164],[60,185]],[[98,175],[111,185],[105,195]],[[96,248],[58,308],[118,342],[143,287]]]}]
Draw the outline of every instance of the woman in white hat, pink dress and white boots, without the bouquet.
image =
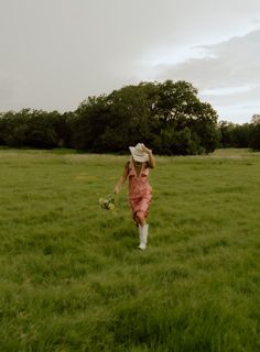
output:
[{"label": "woman in white hat, pink dress and white boots, without the bouquet", "polygon": [[129,147],[131,158],[127,162],[123,174],[119,178],[113,193],[118,194],[128,178],[129,204],[132,209],[132,217],[139,227],[140,250],[145,250],[148,242],[147,217],[152,199],[152,187],[149,185],[149,169],[154,168],[155,160],[152,151],[144,144],[138,143]]}]

